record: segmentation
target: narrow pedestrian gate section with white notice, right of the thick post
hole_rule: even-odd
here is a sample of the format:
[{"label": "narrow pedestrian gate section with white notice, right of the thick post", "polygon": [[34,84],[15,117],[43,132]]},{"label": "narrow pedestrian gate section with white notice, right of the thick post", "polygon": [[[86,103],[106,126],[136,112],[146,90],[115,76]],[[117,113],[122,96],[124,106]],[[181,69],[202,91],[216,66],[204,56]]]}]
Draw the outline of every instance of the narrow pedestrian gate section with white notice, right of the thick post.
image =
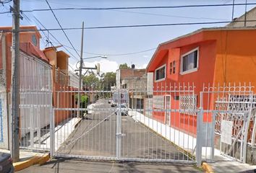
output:
[{"label": "narrow pedestrian gate section with white notice, right of the thick post", "polygon": [[245,163],[248,139],[252,137],[249,126],[255,126],[252,124],[255,109],[252,89],[249,84],[203,87],[197,117],[200,126],[197,129],[202,131],[197,138],[202,148],[199,157],[213,160],[214,148],[217,148],[223,156]]}]

